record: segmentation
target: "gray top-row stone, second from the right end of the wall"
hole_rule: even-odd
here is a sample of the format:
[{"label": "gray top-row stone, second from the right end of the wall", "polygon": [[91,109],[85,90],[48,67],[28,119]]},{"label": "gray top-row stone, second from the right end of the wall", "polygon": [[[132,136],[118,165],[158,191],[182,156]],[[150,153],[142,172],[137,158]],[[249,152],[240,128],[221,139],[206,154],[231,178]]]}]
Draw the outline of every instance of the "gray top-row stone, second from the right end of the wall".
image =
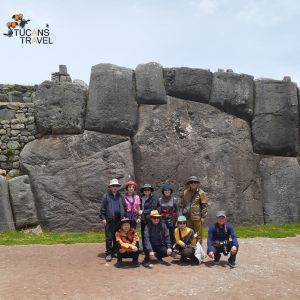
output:
[{"label": "gray top-row stone, second from the right end of the wall", "polygon": [[253,115],[253,97],[253,76],[228,71],[214,73],[209,104],[250,121]]}]

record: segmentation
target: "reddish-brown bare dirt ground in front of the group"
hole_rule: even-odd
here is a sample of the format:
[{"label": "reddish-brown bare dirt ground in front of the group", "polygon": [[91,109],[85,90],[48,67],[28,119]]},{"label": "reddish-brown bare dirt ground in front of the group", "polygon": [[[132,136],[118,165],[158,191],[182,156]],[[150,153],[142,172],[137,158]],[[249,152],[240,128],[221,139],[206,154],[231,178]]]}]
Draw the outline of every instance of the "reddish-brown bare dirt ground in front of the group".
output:
[{"label": "reddish-brown bare dirt ground in front of the group", "polygon": [[300,236],[239,242],[235,269],[223,256],[116,269],[103,244],[0,246],[0,299],[299,299]]}]

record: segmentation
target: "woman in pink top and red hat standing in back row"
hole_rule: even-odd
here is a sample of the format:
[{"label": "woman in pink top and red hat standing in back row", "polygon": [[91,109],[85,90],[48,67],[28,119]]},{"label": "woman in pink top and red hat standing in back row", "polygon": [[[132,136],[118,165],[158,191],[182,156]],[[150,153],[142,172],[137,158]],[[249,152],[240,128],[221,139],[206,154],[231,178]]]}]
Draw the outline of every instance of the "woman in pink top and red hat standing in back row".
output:
[{"label": "woman in pink top and red hat standing in back row", "polygon": [[127,206],[127,216],[130,220],[132,220],[132,226],[136,228],[137,223],[141,221],[140,218],[140,197],[135,194],[135,190],[137,189],[137,183],[134,181],[128,181],[125,184],[125,203]]}]

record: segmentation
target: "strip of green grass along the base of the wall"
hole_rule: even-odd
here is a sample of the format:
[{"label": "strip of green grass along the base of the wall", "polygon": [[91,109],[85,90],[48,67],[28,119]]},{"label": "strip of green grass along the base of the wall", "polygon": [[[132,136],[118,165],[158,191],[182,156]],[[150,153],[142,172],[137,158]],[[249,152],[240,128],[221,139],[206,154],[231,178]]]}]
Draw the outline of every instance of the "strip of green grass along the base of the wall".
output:
[{"label": "strip of green grass along the base of the wall", "polygon": [[[300,224],[237,226],[235,227],[235,231],[239,238],[294,237],[296,235],[300,235]],[[207,228],[204,230],[204,236],[207,236]],[[22,231],[9,231],[0,233],[0,245],[102,243],[104,240],[105,237],[103,232],[45,232],[40,235],[24,233]]]}]

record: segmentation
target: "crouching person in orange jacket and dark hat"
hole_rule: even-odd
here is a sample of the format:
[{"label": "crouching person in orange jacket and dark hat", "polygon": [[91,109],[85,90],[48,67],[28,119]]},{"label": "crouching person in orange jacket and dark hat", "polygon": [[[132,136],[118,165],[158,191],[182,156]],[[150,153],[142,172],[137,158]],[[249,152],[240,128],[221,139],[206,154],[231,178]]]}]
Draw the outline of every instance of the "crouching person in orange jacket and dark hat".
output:
[{"label": "crouching person in orange jacket and dark hat", "polygon": [[132,220],[123,219],[120,222],[120,229],[116,232],[117,241],[117,268],[122,267],[123,258],[132,258],[134,267],[139,267],[139,237],[132,227]]}]

